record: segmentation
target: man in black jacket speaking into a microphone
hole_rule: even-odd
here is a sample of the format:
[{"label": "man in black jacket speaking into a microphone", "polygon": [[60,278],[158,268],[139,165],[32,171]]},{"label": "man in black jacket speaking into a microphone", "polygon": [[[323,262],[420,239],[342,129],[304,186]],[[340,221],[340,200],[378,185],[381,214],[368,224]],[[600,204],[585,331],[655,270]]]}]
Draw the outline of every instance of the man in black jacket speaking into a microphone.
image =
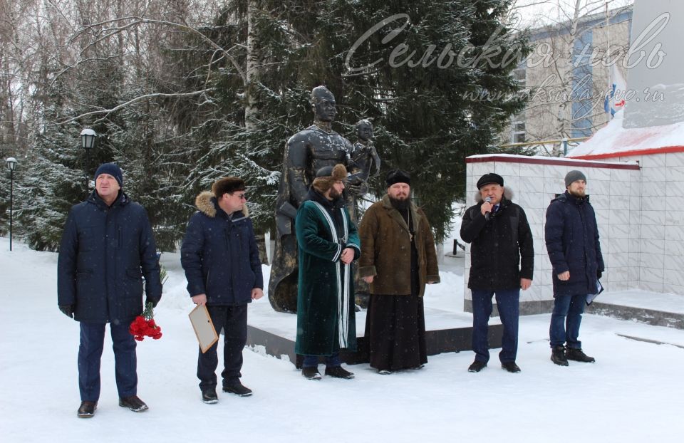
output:
[{"label": "man in black jacket speaking into a microphone", "polygon": [[520,289],[532,285],[534,246],[532,231],[522,207],[511,202],[512,193],[504,188],[499,174],[484,174],[477,180],[479,190],[475,206],[463,214],[461,238],[470,243],[472,293],[472,350],[475,361],[470,372],[480,372],[489,360],[487,322],[492,315],[492,296],[504,325],[501,367],[520,372],[515,363],[518,351]]}]

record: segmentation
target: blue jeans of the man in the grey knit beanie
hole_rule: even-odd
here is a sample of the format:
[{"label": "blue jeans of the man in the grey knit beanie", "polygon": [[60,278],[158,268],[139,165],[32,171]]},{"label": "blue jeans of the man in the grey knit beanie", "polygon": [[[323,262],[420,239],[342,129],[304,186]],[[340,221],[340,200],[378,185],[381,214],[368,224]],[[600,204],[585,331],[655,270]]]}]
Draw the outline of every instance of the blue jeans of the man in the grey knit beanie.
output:
[{"label": "blue jeans of the man in the grey knit beanie", "polygon": [[578,337],[585,304],[586,294],[554,298],[554,312],[551,313],[551,326],[549,326],[551,348],[562,346],[564,343],[568,348],[582,348],[582,342],[578,340]]}]

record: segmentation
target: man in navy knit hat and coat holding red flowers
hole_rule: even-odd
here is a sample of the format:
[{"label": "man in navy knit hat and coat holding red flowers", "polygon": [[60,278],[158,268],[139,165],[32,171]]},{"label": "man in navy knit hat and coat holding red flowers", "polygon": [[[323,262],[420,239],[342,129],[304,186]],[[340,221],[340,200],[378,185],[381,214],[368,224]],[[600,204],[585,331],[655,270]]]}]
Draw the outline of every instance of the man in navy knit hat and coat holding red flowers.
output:
[{"label": "man in navy knit hat and coat holding red flowers", "polygon": [[[119,405],[147,410],[137,395],[135,340],[130,323],[142,313],[142,288],[153,305],[162,296],[155,238],[145,209],[121,189],[113,163],[95,172],[95,191],[71,208],[57,264],[59,309],[81,323],[78,348],[78,417],[93,417],[100,397],[100,357],[105,325],[114,343]],[[143,285],[142,278],[145,278]]]}]

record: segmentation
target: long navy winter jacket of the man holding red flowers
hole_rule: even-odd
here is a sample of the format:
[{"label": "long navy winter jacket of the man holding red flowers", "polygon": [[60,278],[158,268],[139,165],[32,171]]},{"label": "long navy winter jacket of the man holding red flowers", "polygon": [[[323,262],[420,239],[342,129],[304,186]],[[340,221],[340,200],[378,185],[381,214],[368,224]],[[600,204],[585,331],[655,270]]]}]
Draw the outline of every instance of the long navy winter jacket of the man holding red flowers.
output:
[{"label": "long navy winter jacket of the man holding red flowers", "polygon": [[58,304],[78,321],[130,323],[162,296],[155,239],[145,209],[119,192],[111,207],[96,191],[71,208],[57,264]]}]

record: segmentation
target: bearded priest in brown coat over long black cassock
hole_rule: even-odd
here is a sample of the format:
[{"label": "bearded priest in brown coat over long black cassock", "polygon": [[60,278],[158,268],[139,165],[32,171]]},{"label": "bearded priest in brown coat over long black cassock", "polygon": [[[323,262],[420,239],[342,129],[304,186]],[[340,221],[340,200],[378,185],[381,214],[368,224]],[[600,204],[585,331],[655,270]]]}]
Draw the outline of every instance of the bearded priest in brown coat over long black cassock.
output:
[{"label": "bearded priest in brown coat over long black cassock", "polygon": [[360,225],[358,272],[371,287],[366,333],[371,368],[380,374],[427,363],[425,284],[439,283],[435,239],[422,209],[411,201],[411,177],[386,177],[387,194],[368,208]]}]

